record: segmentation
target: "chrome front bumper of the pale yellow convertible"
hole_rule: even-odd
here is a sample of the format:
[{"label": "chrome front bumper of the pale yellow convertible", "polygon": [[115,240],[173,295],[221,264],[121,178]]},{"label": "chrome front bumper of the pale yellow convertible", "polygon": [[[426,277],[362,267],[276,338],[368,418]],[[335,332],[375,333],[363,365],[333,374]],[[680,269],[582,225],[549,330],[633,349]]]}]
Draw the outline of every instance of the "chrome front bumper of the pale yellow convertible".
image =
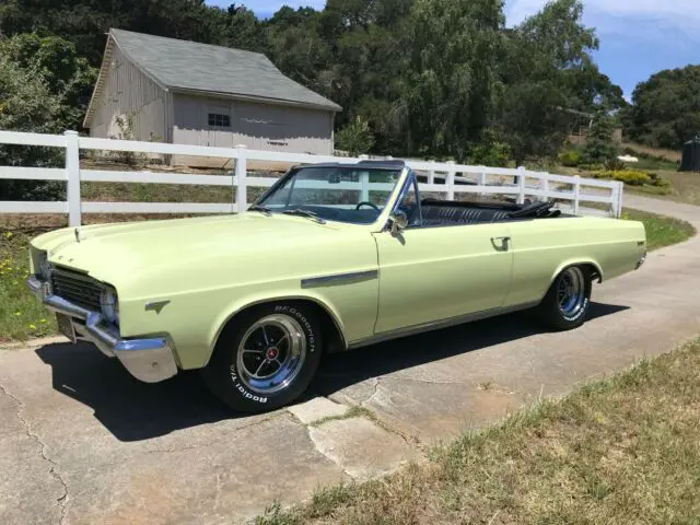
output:
[{"label": "chrome front bumper of the pale yellow convertible", "polygon": [[54,295],[48,282],[35,276],[30,277],[26,284],[47,308],[70,317],[77,338],[94,343],[105,355],[117,358],[137,380],[158,383],[177,374],[175,354],[166,338],[120,339],[102,313]]}]

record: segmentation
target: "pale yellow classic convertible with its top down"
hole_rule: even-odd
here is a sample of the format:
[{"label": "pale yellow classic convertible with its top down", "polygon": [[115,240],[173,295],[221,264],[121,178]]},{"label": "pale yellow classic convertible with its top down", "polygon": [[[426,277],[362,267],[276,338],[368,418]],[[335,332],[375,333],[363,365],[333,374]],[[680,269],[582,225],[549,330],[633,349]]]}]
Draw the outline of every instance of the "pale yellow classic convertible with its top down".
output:
[{"label": "pale yellow classic convertible with its top down", "polygon": [[27,284],[135,377],[201,369],[255,412],[299,397],[328,351],[525,308],[575,328],[592,282],[646,255],[639,222],[420,191],[400,162],[298,166],[236,215],[40,235]]}]

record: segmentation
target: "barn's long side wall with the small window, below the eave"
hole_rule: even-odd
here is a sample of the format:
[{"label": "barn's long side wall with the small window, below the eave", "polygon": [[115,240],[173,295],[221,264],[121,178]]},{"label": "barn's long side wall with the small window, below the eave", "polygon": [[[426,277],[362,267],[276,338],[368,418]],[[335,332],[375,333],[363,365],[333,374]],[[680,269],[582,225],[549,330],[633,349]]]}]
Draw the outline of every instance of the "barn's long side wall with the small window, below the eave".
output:
[{"label": "barn's long side wall with the small window, below the eave", "polygon": [[[226,114],[230,128],[209,126],[209,113]],[[173,142],[293,153],[332,154],[332,112],[240,102],[207,96],[174,96]],[[192,164],[194,159],[175,158]],[[199,162],[195,164],[200,164]],[[206,162],[221,165],[221,160]]]}]

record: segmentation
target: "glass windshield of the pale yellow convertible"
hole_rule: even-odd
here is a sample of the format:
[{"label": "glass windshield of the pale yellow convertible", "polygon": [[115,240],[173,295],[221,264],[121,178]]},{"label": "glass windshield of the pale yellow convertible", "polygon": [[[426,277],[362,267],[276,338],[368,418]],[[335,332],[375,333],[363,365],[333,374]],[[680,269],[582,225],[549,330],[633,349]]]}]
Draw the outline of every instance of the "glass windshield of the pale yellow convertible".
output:
[{"label": "glass windshield of the pale yellow convertible", "polygon": [[323,220],[372,224],[386,206],[401,170],[308,166],[256,203],[272,213],[311,212]]}]

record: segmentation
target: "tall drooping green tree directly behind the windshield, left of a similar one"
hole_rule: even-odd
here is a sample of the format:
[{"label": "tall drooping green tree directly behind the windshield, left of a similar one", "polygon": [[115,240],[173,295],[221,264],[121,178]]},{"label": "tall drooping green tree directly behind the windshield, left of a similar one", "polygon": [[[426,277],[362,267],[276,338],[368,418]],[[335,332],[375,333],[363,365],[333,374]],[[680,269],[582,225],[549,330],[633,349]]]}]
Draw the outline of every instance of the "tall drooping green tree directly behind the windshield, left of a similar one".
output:
[{"label": "tall drooping green tree directly behind the windshield, left of a similar one", "polygon": [[466,158],[501,88],[500,0],[417,0],[401,95],[410,154]]}]

